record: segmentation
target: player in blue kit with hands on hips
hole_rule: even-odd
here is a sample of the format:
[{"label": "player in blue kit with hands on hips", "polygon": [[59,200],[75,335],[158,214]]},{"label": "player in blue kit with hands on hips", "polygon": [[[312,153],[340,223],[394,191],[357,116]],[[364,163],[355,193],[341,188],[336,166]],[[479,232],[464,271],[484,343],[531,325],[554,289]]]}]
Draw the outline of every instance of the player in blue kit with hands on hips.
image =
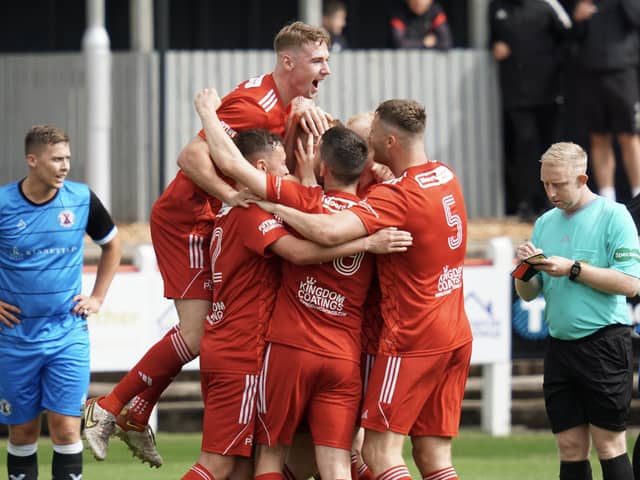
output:
[{"label": "player in blue kit with hands on hips", "polygon": [[[87,317],[98,312],[120,263],[118,229],[100,200],[69,174],[69,137],[49,125],[25,137],[27,176],[0,187],[0,423],[9,425],[9,478],[38,478],[47,411],[52,479],[82,477],[80,414],[89,386]],[[101,247],[84,295],[85,232]]]}]

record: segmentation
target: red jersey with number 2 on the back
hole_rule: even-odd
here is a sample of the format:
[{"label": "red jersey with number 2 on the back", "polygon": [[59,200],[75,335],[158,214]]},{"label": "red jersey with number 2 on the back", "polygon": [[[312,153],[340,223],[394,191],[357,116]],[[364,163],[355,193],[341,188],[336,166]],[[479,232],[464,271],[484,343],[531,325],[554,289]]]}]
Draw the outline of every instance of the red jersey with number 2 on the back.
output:
[{"label": "red jersey with number 2 on the back", "polygon": [[279,258],[268,247],[287,234],[282,222],[256,205],[224,207],[216,216],[213,304],[200,347],[201,370],[258,373],[280,278]]}]

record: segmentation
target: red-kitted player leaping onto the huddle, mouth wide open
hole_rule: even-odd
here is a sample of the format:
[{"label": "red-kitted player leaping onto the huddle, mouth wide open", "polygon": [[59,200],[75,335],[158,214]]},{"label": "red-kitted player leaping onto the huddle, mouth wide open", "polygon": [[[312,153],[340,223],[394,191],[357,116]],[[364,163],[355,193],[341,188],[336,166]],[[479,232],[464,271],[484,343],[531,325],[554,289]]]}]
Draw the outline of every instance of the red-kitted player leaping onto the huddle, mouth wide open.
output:
[{"label": "red-kitted player leaping onto the huddle, mouth wide open", "polygon": [[[241,83],[227,95],[220,118],[227,133],[265,128],[282,135],[301,124],[314,135],[328,128],[329,116],[307,108],[290,115],[298,97],[313,99],[329,69],[329,36],[321,28],[295,22],[274,39],[277,60],[272,73]],[[107,454],[109,437],[118,434],[134,455],[152,466],[160,466],[147,423],[160,394],[182,366],[199,353],[204,319],[211,307],[211,265],[207,248],[213,219],[221,202],[246,206],[243,192],[221,178],[210,159],[200,132],[178,157],[175,179],[155,202],[151,211],[151,237],[164,281],[164,295],[174,300],[179,328],[171,329],[105,397],[90,399],[85,416],[85,439],[98,460]],[[135,397],[135,398],[134,398]],[[128,413],[119,415],[133,399]],[[116,420],[119,426],[116,429]]]}]

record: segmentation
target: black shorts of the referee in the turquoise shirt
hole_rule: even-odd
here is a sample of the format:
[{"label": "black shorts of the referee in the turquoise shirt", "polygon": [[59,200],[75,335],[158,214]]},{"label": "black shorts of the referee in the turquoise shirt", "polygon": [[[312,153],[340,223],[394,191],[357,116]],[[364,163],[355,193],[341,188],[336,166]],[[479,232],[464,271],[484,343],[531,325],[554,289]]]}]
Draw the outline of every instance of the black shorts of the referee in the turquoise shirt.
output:
[{"label": "black shorts of the referee in the turquoise shirt", "polygon": [[551,338],[544,359],[544,402],[553,433],[592,424],[627,428],[633,392],[631,328],[612,325],[574,341]]}]

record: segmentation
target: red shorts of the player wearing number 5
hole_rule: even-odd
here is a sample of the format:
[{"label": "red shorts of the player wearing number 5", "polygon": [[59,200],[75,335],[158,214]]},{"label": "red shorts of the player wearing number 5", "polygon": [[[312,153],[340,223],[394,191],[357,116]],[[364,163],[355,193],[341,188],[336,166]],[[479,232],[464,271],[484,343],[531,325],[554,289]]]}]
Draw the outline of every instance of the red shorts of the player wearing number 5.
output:
[{"label": "red shorts of the player wearing number 5", "polygon": [[377,432],[455,437],[470,361],[471,343],[430,356],[377,355],[362,426]]}]

